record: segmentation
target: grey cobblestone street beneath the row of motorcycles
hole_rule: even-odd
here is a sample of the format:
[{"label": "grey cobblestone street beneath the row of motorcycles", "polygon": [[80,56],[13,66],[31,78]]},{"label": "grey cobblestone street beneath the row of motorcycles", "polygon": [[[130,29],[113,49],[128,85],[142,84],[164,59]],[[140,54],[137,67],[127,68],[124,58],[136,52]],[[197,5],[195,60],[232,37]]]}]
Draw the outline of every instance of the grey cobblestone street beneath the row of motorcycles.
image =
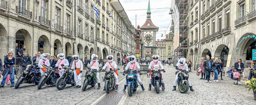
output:
[{"label": "grey cobblestone street beneath the row of motorcycles", "polygon": [[[170,67],[170,66],[169,66]],[[127,91],[123,92],[124,76],[119,73],[119,89],[112,90],[109,94],[103,91],[104,83],[101,82],[101,89],[91,88],[82,92],[81,88],[76,89],[67,85],[64,90],[58,90],[55,86],[45,86],[41,90],[38,90],[36,86],[31,84],[22,84],[20,88],[14,89],[9,86],[1,88],[1,105],[171,105],[171,104],[189,104],[189,105],[255,105],[256,101],[253,100],[252,92],[247,93],[247,87],[244,85],[234,85],[233,80],[223,78],[219,83],[205,83],[204,80],[200,80],[199,76],[196,76],[195,71],[190,73],[190,80],[192,82],[194,92],[190,90],[186,94],[181,94],[178,89],[172,91],[173,83],[175,79],[174,67],[165,66],[166,72],[163,73],[165,80],[164,91],[160,90],[159,94],[156,94],[155,89],[148,90],[148,78],[146,74],[143,74],[140,78],[145,87],[145,91],[141,90],[141,87],[133,94],[128,96]],[[118,66],[119,72],[123,71],[123,66]],[[84,76],[85,72],[83,72]],[[104,75],[104,72],[100,73],[100,78]],[[82,82],[84,77],[82,78]],[[97,86],[97,85],[96,85]],[[236,90],[236,92],[234,92]],[[108,100],[108,101],[106,101]],[[112,100],[112,101],[111,101]],[[106,102],[104,102],[106,101]],[[112,103],[111,103],[112,102]]]}]

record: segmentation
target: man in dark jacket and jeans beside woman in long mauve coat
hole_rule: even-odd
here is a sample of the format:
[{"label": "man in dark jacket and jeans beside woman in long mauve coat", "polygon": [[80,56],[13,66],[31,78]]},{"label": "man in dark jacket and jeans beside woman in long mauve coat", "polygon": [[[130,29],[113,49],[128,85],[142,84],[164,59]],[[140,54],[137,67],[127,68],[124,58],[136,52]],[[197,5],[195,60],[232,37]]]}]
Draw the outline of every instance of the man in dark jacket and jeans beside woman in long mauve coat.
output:
[{"label": "man in dark jacket and jeans beside woman in long mauve coat", "polygon": [[204,71],[206,72],[206,82],[210,82],[210,71],[212,70],[212,61],[210,60],[210,56],[206,56],[206,61],[203,63]]}]

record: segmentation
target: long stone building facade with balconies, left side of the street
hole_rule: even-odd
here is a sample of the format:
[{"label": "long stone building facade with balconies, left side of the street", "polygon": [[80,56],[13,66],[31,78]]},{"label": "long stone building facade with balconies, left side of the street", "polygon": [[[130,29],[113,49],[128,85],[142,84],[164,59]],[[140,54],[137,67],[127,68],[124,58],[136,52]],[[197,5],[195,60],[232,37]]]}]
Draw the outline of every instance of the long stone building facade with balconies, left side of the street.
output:
[{"label": "long stone building facade with balconies, left side of the street", "polygon": [[135,28],[129,18],[122,18],[127,15],[120,12],[119,1],[98,0],[98,21],[92,10],[95,0],[78,0],[76,4],[75,0],[0,1],[2,59],[7,51],[15,52],[15,42],[19,48],[26,45],[31,56],[42,51],[51,56],[79,54],[84,60],[93,53],[104,58],[135,54]]}]

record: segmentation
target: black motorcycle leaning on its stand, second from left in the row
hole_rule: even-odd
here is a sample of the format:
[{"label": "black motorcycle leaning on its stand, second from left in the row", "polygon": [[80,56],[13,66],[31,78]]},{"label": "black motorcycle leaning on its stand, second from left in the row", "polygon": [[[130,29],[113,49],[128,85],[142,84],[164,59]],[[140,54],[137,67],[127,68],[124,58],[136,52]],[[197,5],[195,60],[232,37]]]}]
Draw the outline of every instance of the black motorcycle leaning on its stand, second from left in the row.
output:
[{"label": "black motorcycle leaning on its stand, second from left in the row", "polygon": [[59,73],[57,73],[58,70],[56,70],[55,68],[49,67],[47,65],[44,65],[44,66],[46,67],[46,71],[43,73],[43,76],[40,79],[39,84],[37,85],[37,89],[41,89],[44,84],[47,84],[47,85],[56,84],[57,79],[60,77]]}]

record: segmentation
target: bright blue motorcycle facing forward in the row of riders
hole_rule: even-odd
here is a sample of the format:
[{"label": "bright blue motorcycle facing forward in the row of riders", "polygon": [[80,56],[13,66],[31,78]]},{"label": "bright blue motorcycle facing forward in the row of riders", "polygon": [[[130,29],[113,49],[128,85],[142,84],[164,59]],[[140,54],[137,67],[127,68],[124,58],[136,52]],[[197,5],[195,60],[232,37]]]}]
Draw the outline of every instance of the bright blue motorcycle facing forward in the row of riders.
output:
[{"label": "bright blue motorcycle facing forward in the row of riders", "polygon": [[137,82],[137,70],[127,70],[123,73],[123,75],[127,74],[126,76],[126,82],[127,82],[127,90],[128,95],[132,96],[133,92],[135,92],[138,88],[138,82]]}]

